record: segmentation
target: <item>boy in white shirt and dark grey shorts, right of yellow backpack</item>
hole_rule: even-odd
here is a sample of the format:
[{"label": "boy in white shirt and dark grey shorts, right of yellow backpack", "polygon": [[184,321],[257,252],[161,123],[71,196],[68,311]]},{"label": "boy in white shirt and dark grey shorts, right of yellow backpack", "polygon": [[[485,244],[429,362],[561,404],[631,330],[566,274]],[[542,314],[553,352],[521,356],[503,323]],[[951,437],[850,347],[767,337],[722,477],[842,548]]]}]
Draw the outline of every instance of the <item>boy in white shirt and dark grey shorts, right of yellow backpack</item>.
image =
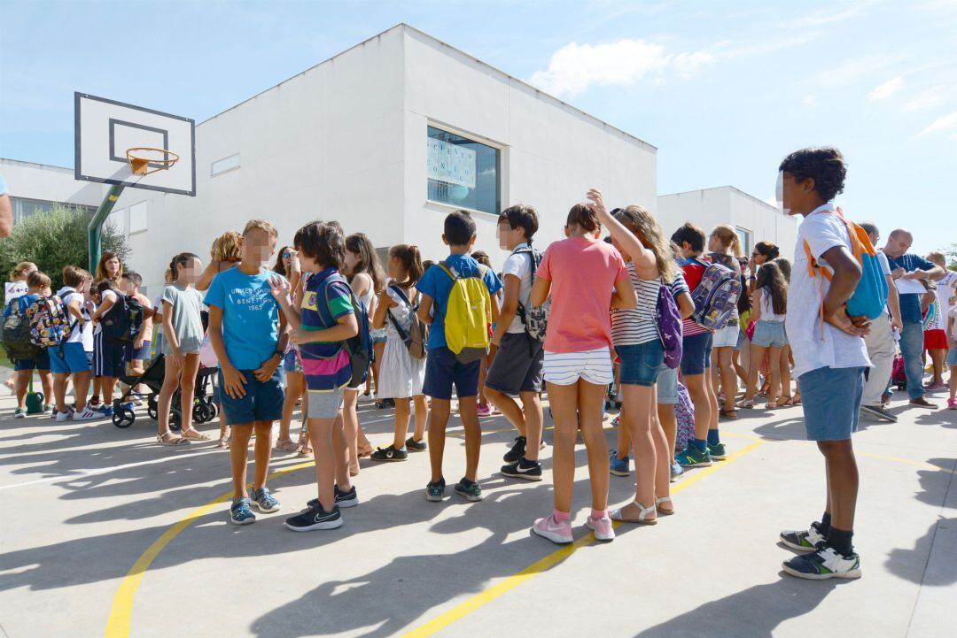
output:
[{"label": "boy in white shirt and dark grey shorts, right of yellow backpack", "polygon": [[[531,206],[515,204],[499,215],[499,245],[511,254],[501,266],[504,299],[492,334],[498,351],[485,378],[485,395],[519,431],[501,468],[506,477],[542,480],[539,449],[542,441],[543,366],[545,330],[533,323],[530,299],[542,252],[532,248],[538,214]],[[512,396],[519,396],[522,407]]]}]

